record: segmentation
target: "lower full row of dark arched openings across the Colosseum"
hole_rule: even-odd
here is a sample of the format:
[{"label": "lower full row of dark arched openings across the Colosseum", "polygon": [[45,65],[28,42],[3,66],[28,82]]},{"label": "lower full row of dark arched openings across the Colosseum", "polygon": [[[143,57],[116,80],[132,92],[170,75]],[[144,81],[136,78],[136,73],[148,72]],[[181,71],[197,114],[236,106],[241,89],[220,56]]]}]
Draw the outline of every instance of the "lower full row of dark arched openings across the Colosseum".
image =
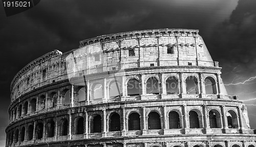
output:
[{"label": "lower full row of dark arched openings across the Colosseum", "polygon": [[[204,128],[202,113],[197,109],[192,109],[188,113],[188,123],[190,129]],[[207,114],[210,128],[222,128],[222,118],[218,110],[212,109]],[[139,112],[131,112],[127,116],[127,131],[142,130],[143,128],[143,116]],[[229,110],[226,113],[228,127],[238,128],[238,116],[233,110]],[[89,117],[88,133],[103,133],[103,116],[102,114],[92,114]],[[167,114],[168,128],[167,129],[182,129],[182,114],[180,111],[173,110]],[[147,130],[161,130],[164,121],[161,118],[159,111],[150,111],[146,116]],[[87,127],[85,125],[86,119],[83,116],[77,116],[74,118],[74,131],[72,134],[84,134]],[[186,122],[187,123],[187,122]],[[58,125],[56,125],[58,124]],[[108,132],[121,131],[122,119],[117,112],[112,112],[108,118]],[[57,127],[57,128],[56,128]],[[123,128],[122,128],[123,129]],[[44,133],[45,130],[45,134]],[[57,130],[57,131],[56,131]],[[37,121],[35,126],[29,125],[28,128],[22,127],[14,129],[9,132],[9,143],[15,143],[18,141],[41,139],[45,137],[54,136],[67,136],[69,134],[69,121],[67,118],[62,118],[58,123],[53,119],[48,120],[46,123]]]}]

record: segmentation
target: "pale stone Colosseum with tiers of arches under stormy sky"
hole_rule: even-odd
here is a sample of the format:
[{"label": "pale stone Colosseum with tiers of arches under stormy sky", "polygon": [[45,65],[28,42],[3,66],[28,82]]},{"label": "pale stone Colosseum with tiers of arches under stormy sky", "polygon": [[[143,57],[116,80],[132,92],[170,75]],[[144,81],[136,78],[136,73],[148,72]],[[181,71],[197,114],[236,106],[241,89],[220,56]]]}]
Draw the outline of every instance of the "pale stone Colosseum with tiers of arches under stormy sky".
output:
[{"label": "pale stone Colosseum with tiers of arches under stormy sky", "polygon": [[198,30],[102,35],[11,82],[6,146],[256,147]]}]

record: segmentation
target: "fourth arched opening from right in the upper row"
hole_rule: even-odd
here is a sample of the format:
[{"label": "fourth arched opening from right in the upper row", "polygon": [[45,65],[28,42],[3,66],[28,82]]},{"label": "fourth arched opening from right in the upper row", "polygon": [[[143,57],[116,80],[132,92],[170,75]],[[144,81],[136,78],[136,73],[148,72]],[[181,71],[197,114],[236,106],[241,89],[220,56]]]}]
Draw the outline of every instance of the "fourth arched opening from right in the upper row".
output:
[{"label": "fourth arched opening from right in the upper row", "polygon": [[159,94],[159,84],[156,77],[151,77],[146,81],[146,93]]}]

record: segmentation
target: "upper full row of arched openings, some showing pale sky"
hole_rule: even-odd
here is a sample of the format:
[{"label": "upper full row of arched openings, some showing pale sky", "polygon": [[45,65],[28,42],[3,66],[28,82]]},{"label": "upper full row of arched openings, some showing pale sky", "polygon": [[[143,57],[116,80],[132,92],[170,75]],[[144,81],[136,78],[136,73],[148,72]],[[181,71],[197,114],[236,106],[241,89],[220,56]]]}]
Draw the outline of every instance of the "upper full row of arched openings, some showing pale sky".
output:
[{"label": "upper full row of arched openings, some showing pale sky", "polygon": [[[180,84],[179,79],[175,76],[169,76],[165,80],[165,88],[166,94],[179,94],[180,93]],[[190,94],[198,94],[198,78],[195,76],[189,76],[186,78],[186,92]],[[216,94],[216,80],[212,77],[206,77],[205,81],[205,89],[206,93]],[[110,99],[115,97],[120,97],[123,95],[121,92],[121,84],[115,80],[109,83],[109,96]],[[210,87],[209,87],[210,86]],[[150,77],[146,81],[146,93],[148,94],[159,94],[160,93],[159,79],[156,77]],[[104,88],[102,83],[93,83],[90,87],[89,95],[87,95],[88,90],[87,86],[78,86],[75,89],[75,93],[73,96],[75,97],[76,102],[84,102],[84,101],[102,101],[104,98]],[[127,81],[126,85],[126,95],[127,96],[138,96],[141,95],[141,84],[137,78],[131,78]],[[45,108],[55,108],[58,105],[69,105],[71,103],[71,90],[66,88],[63,89],[59,94],[55,91],[50,92],[47,96],[45,94],[41,94],[38,99],[34,98],[31,101],[25,101],[23,104],[19,104],[11,110],[10,121],[19,118],[20,116],[24,116],[28,113],[33,113],[36,109],[43,110]],[[90,100],[87,100],[89,97]]]}]

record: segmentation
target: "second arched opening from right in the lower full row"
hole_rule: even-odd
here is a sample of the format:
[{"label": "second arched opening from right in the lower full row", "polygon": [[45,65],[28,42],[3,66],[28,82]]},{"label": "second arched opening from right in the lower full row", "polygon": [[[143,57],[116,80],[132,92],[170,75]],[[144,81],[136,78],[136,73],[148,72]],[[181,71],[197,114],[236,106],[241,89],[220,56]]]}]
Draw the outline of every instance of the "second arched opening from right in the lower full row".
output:
[{"label": "second arched opening from right in the lower full row", "polygon": [[209,112],[210,128],[221,128],[221,115],[217,110]]}]

